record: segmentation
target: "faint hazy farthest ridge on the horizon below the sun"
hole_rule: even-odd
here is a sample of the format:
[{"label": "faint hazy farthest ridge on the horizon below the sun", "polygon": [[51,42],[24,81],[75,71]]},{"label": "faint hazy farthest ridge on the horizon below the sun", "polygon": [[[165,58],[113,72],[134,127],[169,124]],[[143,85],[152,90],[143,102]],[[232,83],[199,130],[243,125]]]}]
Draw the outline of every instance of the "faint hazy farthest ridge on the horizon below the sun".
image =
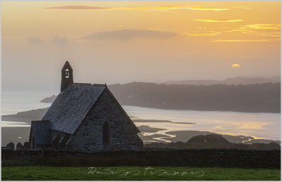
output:
[{"label": "faint hazy farthest ridge on the horizon below the sun", "polygon": [[212,85],[212,84],[263,84],[263,83],[280,83],[280,76],[265,78],[244,78],[234,77],[221,80],[213,79],[197,79],[197,80],[183,80],[183,81],[167,81],[164,84],[192,84],[192,85]]}]

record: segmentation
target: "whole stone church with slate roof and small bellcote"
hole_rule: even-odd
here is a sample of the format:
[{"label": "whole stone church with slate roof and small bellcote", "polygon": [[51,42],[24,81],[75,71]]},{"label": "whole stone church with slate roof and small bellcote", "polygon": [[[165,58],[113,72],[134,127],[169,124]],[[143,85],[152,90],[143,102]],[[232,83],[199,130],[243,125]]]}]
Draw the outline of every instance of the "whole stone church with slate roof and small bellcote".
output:
[{"label": "whole stone church with slate roof and small bellcote", "polygon": [[75,150],[138,150],[140,131],[106,84],[73,83],[66,61],[61,93],[41,121],[32,121],[31,148]]}]

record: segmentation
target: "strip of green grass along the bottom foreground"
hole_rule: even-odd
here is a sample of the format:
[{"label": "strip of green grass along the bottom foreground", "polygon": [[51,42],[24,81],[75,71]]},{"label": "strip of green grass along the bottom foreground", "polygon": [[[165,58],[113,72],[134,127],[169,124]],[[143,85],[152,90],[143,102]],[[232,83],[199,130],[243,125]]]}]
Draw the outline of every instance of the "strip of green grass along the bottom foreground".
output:
[{"label": "strip of green grass along the bottom foreground", "polygon": [[[2,180],[280,181],[281,179],[280,169],[238,169],[219,167],[150,167],[150,169],[147,169],[147,172],[145,173],[146,168],[147,167],[97,167],[96,171],[93,168],[92,173],[88,174],[90,171],[88,167],[2,167]],[[140,174],[137,174],[139,171]],[[151,171],[155,173],[152,174]],[[178,172],[178,174],[176,173],[176,171]],[[183,173],[184,171],[186,172],[186,174]],[[126,174],[126,172],[130,173]]]}]

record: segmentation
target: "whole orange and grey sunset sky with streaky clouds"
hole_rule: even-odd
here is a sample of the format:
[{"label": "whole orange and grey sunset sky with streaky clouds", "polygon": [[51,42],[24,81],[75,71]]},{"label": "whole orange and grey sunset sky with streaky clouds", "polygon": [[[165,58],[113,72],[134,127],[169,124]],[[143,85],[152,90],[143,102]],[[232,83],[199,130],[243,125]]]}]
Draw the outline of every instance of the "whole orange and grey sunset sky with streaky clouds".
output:
[{"label": "whole orange and grey sunset sky with streaky clouds", "polygon": [[2,89],[280,74],[280,1],[2,1]]}]

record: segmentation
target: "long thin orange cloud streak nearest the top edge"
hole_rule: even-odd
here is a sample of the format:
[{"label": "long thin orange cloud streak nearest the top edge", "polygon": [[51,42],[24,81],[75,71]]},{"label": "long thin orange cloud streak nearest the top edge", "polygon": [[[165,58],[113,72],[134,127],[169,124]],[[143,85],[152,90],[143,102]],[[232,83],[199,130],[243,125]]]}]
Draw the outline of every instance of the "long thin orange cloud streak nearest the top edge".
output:
[{"label": "long thin orange cloud streak nearest the top edge", "polygon": [[99,6],[57,6],[45,8],[47,10],[136,10],[136,11],[151,11],[151,10],[172,10],[172,9],[189,9],[200,11],[223,11],[228,8],[208,8],[208,7],[192,7],[192,6],[156,6],[156,7],[99,7]]}]

